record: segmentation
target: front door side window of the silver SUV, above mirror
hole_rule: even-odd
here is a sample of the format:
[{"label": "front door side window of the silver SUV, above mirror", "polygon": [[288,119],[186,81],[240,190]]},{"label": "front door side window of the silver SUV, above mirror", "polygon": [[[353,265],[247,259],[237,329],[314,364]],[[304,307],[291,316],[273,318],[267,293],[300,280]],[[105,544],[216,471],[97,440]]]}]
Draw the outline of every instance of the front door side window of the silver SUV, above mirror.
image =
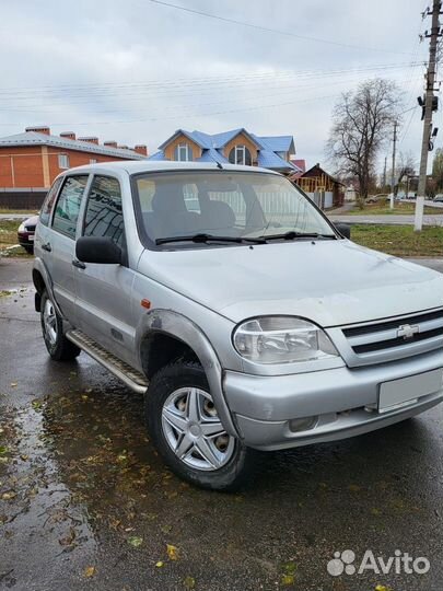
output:
[{"label": "front door side window of the silver SUV, above mirror", "polygon": [[110,237],[125,244],[120,184],[109,176],[95,176],[88,197],[84,219],[85,236]]}]

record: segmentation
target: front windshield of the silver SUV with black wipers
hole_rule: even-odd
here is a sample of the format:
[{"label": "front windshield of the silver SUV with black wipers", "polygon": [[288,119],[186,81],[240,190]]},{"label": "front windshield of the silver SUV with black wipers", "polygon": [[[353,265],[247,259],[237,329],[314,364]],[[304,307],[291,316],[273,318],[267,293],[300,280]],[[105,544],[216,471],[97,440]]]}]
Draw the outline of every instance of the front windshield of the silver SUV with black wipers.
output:
[{"label": "front windshield of the silver SUV with black wipers", "polygon": [[[335,236],[329,223],[283,176],[233,171],[147,173],[135,176],[142,234],[148,246],[210,247],[254,239]],[[194,236],[194,241],[193,241]],[[184,240],[177,240],[183,237]],[[229,239],[238,239],[236,241]],[[307,237],[307,236],[306,236]],[[167,244],[167,239],[173,244]],[[193,244],[194,242],[194,244]],[[223,242],[220,240],[220,242]]]}]

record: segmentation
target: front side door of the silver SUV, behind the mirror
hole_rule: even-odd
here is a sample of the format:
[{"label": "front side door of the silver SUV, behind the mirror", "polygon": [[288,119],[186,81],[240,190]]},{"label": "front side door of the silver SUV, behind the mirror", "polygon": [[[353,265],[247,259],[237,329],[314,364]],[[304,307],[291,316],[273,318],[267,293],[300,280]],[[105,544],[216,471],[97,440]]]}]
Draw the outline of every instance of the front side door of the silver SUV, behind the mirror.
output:
[{"label": "front side door of the silver SUV, behind the mirror", "polygon": [[[118,178],[98,174],[93,177],[83,215],[82,235],[107,236],[126,254],[125,220]],[[130,305],[133,271],[125,263],[88,263],[77,267],[74,275],[80,328],[109,352],[130,364],[137,363],[136,327]]]}]

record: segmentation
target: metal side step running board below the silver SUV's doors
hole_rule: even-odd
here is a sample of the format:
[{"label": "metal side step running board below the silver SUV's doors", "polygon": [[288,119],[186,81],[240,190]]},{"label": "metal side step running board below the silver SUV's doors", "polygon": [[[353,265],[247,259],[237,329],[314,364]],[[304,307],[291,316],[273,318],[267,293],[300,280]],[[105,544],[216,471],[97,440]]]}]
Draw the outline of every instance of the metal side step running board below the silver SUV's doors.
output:
[{"label": "metal side step running board below the silver SUV's doors", "polygon": [[138,394],[144,394],[148,387],[148,381],[142,373],[115,357],[115,355],[108,352],[81,331],[68,331],[66,337],[82,349],[82,351],[86,352],[90,357],[95,359],[95,361],[109,370],[110,373],[121,380],[128,387]]}]

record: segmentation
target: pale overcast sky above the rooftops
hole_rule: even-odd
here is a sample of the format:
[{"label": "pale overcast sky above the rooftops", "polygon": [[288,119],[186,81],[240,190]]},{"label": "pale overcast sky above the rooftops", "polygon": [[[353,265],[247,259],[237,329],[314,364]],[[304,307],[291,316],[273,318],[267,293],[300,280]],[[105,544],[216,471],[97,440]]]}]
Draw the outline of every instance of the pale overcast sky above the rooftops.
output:
[{"label": "pale overcast sky above the rooftops", "polygon": [[[150,0],[2,0],[0,135],[47,124],[152,153],[179,127],[245,127],[293,135],[313,165],[340,92],[390,78],[405,109],[422,92],[423,0],[165,1],[281,33]],[[399,150],[418,161],[419,109],[404,121]]]}]

